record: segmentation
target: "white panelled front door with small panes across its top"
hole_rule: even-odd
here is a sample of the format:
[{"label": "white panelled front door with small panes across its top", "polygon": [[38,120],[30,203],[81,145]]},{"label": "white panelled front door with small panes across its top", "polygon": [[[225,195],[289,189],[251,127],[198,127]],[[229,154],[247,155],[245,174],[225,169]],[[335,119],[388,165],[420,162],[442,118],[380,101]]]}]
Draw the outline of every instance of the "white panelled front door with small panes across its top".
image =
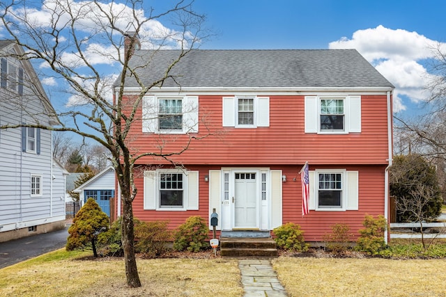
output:
[{"label": "white panelled front door with small panes across its top", "polygon": [[234,193],[234,228],[258,228],[257,173],[236,172]]}]

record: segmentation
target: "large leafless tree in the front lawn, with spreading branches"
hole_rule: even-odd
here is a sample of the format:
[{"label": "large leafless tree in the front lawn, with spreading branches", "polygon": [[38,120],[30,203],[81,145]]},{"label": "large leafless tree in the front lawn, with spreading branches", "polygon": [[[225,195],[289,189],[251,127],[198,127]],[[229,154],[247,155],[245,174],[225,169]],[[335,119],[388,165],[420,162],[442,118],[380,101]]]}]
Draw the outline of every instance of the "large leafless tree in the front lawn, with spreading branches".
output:
[{"label": "large leafless tree in the front lawn, with spreading branches", "polygon": [[[49,126],[36,117],[36,124],[17,123],[8,127],[72,131],[107,148],[121,188],[122,239],[129,287],[141,286],[134,255],[135,162],[142,156],[171,160],[171,156],[185,152],[193,141],[209,135],[209,131],[190,134],[185,143],[178,146],[178,151],[164,151],[162,144],[172,139],[162,140],[161,135],[154,136],[160,139],[155,152],[139,152],[129,145],[132,143],[130,127],[141,120],[137,118],[137,110],[141,108],[144,95],[154,86],[162,86],[164,80],[175,79],[171,75],[172,67],[206,37],[202,30],[204,17],[192,10],[192,2],[180,0],[163,11],[146,8],[142,0],[123,3],[9,0],[0,3],[1,24],[26,52],[20,56],[16,54],[15,58],[31,60],[40,66],[46,77],[63,81],[67,86],[65,92],[71,95],[66,106],[72,107],[57,114],[61,126]],[[167,19],[176,29],[161,25],[160,21]],[[166,47],[176,48],[178,57],[167,65],[160,77],[147,82],[139,77],[141,65],[133,67],[129,63],[139,45],[146,45],[155,52]],[[124,47],[127,50],[124,51]],[[99,67],[104,63],[107,70]],[[151,61],[146,61],[142,67],[151,67]],[[117,72],[104,74],[110,74],[110,70]],[[124,88],[130,77],[138,86],[131,98],[125,95]],[[110,94],[114,94],[114,100]]]}]

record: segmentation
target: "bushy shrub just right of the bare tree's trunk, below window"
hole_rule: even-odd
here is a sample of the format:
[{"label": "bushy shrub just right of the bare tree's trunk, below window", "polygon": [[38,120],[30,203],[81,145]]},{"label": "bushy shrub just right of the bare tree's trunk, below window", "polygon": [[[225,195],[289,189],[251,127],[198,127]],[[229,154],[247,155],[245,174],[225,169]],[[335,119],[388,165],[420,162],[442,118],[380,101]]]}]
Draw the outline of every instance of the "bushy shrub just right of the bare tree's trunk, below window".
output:
[{"label": "bushy shrub just right of the bare tree's trunk, below window", "polygon": [[167,220],[155,222],[134,222],[134,237],[137,239],[134,248],[136,252],[144,252],[146,257],[159,257],[167,252],[167,241],[171,232],[167,230]]}]

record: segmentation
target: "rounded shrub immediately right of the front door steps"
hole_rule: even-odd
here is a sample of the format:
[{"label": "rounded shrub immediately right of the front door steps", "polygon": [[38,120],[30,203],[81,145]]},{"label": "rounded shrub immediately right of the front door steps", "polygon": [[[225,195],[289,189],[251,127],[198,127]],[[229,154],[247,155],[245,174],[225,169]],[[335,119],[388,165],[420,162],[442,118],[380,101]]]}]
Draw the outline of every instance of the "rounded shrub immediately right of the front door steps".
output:
[{"label": "rounded shrub immediately right of the front door steps", "polygon": [[279,248],[297,252],[308,250],[308,245],[305,244],[304,232],[300,230],[300,225],[286,223],[275,228],[272,232],[275,234],[274,240]]}]

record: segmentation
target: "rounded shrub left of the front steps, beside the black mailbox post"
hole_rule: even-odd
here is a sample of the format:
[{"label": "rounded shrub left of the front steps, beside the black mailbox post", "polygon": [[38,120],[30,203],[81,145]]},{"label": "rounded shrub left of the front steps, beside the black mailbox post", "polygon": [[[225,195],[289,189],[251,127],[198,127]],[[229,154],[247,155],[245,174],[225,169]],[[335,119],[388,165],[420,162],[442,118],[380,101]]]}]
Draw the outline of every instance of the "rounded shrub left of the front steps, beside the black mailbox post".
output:
[{"label": "rounded shrub left of the front steps, beside the black mailbox post", "polygon": [[208,225],[201,216],[191,216],[178,227],[174,249],[198,252],[201,248],[208,247],[206,239],[208,239]]}]

